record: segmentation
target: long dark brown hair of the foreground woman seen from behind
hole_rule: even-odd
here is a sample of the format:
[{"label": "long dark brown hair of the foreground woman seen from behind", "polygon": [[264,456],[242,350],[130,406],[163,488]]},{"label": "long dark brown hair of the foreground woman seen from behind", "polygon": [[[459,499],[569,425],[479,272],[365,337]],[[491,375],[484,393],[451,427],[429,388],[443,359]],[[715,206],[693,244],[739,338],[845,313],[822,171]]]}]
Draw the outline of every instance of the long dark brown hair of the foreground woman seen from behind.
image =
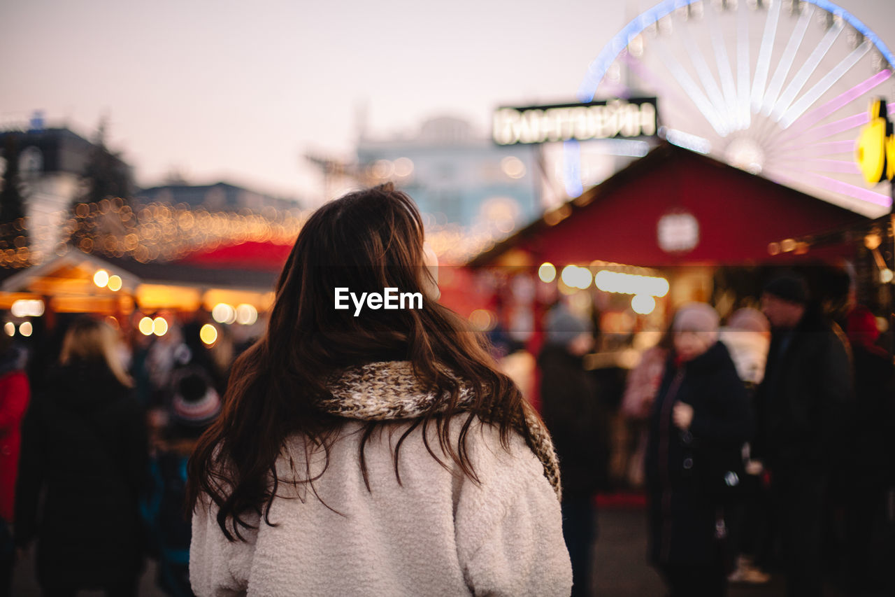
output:
[{"label": "long dark brown hair of the foreground woman seen from behind", "polygon": [[[301,434],[307,439],[306,452],[322,449],[328,462],[329,446],[344,420],[316,406],[332,398],[327,377],[375,360],[371,355],[405,355],[416,376],[443,396],[396,443],[396,475],[405,437],[422,425],[425,438],[426,428],[434,424],[442,454],[477,480],[466,453],[467,431],[478,416],[499,426],[501,441],[508,446],[511,420],[524,408],[522,394],[497,370],[481,335],[430,299],[425,275],[422,218],[413,200],[390,184],[350,193],[314,212],[277,281],[266,333],[236,359],[224,410],[190,459],[187,506],[195,509],[200,495],[207,494],[230,541],[243,540],[240,527],[253,528],[243,520],[247,512],[263,511],[265,523],[272,524],[268,516],[279,483],[313,487],[314,479],[286,481],[277,476],[277,457],[286,438]],[[340,287],[355,293],[381,293],[385,288],[420,292],[422,309],[368,309],[355,317],[354,308],[334,308],[335,289]],[[460,403],[458,380],[471,385],[472,403]],[[454,446],[449,421],[460,412],[468,414]],[[363,446],[385,424],[365,423],[359,465],[367,489]],[[441,462],[428,442],[426,447]]]}]

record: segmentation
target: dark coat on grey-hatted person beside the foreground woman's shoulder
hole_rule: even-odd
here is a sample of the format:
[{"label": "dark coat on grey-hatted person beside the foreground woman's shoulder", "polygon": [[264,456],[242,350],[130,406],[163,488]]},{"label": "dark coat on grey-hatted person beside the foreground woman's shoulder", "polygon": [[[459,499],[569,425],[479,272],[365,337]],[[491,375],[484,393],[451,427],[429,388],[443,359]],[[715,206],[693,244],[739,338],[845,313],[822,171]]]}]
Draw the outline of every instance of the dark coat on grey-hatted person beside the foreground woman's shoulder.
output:
[{"label": "dark coat on grey-hatted person beside the foreground woman's shoulder", "polygon": [[590,497],[606,484],[606,418],[583,359],[557,344],[541,350],[541,416],[559,457],[563,497]]}]

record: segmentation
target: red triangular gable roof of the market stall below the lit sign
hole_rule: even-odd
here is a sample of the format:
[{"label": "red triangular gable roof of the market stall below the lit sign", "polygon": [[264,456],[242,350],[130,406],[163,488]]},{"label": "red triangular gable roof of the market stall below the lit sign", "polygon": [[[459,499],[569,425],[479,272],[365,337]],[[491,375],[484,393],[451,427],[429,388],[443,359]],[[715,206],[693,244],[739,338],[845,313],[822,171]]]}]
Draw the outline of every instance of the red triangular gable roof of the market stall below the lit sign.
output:
[{"label": "red triangular gable roof of the market stall below the lit sign", "polygon": [[[768,263],[783,258],[769,255],[771,243],[859,221],[868,220],[663,143],[475,256],[469,265],[582,264],[594,259],[655,266]],[[836,248],[811,255],[834,255]]]}]

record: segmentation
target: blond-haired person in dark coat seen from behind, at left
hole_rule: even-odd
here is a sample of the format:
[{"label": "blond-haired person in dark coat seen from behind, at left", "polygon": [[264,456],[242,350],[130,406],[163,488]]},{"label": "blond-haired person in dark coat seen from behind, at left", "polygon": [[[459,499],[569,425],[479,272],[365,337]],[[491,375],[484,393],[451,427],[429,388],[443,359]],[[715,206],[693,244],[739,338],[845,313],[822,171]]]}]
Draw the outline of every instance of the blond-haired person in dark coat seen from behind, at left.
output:
[{"label": "blond-haired person in dark coat seen from behind, at left", "polygon": [[45,595],[137,591],[148,446],[144,413],[115,342],[107,324],[74,322],[60,366],[25,415],[14,539],[21,549],[37,539]]}]

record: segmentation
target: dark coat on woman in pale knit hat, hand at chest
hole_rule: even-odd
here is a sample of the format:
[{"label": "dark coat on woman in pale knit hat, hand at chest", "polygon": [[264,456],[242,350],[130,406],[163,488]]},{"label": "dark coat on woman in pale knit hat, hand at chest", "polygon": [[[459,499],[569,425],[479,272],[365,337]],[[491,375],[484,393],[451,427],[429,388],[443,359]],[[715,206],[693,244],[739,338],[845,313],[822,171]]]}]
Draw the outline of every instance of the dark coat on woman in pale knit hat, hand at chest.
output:
[{"label": "dark coat on woman in pale knit hat, hand at chest", "polygon": [[[653,402],[646,452],[650,557],[659,565],[712,564],[721,504],[705,488],[717,481],[718,455],[735,458],[752,435],[753,415],[724,344],[680,367],[672,359]],[[672,421],[676,402],[693,407],[689,433]]]}]

